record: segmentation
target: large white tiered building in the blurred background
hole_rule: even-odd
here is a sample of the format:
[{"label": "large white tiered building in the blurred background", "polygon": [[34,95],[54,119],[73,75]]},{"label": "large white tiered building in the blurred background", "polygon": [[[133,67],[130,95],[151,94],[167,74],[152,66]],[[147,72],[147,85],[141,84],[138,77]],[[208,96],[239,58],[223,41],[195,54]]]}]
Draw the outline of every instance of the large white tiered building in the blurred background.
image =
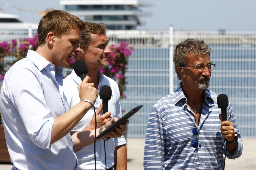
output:
[{"label": "large white tiered building in the blurred background", "polygon": [[149,16],[139,7],[151,6],[138,0],[61,0],[64,10],[87,22],[104,23],[109,30],[132,30],[139,17]]}]

